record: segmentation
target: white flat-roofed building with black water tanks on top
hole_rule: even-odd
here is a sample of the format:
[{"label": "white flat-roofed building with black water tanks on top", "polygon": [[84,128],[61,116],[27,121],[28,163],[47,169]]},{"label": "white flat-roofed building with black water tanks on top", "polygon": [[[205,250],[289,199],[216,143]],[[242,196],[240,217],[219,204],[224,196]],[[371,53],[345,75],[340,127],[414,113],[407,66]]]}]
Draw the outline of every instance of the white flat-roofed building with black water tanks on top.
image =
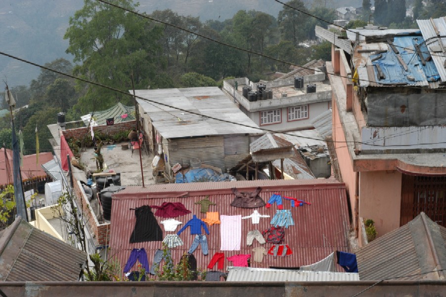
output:
[{"label": "white flat-roofed building with black water tanks on top", "polygon": [[320,68],[311,75],[260,83],[246,77],[225,80],[223,91],[261,127],[280,132],[312,129],[312,119],[331,108],[331,86]]}]

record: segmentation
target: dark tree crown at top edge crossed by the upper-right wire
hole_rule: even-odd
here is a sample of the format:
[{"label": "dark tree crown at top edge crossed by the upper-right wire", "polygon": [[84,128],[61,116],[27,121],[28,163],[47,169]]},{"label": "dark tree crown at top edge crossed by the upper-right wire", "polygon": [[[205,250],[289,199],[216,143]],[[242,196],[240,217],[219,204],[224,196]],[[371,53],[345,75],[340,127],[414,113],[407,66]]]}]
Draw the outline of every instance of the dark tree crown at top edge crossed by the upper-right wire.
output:
[{"label": "dark tree crown at top edge crossed by the upper-right wire", "polygon": [[299,41],[305,38],[305,33],[301,29],[301,26],[307,22],[308,15],[294,8],[302,11],[307,11],[307,8],[301,0],[291,0],[286,2],[286,4],[293,8],[283,5],[283,9],[279,11],[277,22],[280,35],[282,40],[289,40],[297,46]]}]

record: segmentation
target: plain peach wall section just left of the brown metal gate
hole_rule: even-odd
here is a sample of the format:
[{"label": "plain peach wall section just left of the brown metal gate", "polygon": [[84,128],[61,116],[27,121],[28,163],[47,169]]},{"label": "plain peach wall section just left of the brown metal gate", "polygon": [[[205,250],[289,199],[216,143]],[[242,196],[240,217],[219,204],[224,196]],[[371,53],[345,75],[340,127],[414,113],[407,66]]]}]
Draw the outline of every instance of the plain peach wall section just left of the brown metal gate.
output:
[{"label": "plain peach wall section just left of the brown metal gate", "polygon": [[400,227],[401,178],[396,170],[359,173],[359,216],[375,221],[377,237]]}]

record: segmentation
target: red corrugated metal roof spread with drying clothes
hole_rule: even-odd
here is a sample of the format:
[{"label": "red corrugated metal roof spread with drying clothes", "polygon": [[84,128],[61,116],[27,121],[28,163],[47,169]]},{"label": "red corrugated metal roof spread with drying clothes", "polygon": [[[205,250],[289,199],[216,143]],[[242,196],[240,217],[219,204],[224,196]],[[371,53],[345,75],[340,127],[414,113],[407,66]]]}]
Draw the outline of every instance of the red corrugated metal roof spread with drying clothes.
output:
[{"label": "red corrugated metal roof spread with drying clothes", "polygon": [[[110,233],[110,254],[118,259],[121,265],[127,262],[133,248],[144,247],[147,251],[149,263],[152,263],[153,254],[157,248],[161,247],[161,242],[144,242],[129,244],[130,235],[134,229],[135,217],[131,208],[142,205],[161,205],[164,201],[179,201],[192,211],[191,214],[178,217],[183,223],[192,218],[193,214],[203,218],[205,215],[199,213],[199,201],[209,195],[211,201],[217,203],[211,206],[211,211],[219,211],[222,215],[242,215],[248,216],[253,209],[244,209],[230,206],[234,195],[230,190],[236,187],[242,192],[253,191],[256,187],[262,187],[260,196],[265,200],[273,193],[279,192],[284,196],[296,197],[311,202],[312,205],[305,205],[292,209],[295,226],[291,226],[285,231],[285,243],[293,251],[291,256],[284,258],[273,258],[267,255],[262,263],[252,263],[254,267],[296,267],[308,265],[325,258],[335,249],[349,250],[348,232],[349,215],[347,209],[347,197],[345,185],[330,180],[303,181],[245,181],[245,182],[224,182],[224,183],[191,183],[191,184],[167,184],[142,187],[127,187],[113,197],[111,233]],[[285,200],[285,208],[290,208],[290,201]],[[258,209],[261,214],[275,214],[275,206],[271,208]],[[160,221],[159,217],[156,217]],[[252,247],[246,246],[246,234],[249,230],[266,230],[270,224],[269,218],[261,218],[260,224],[253,225],[250,219],[242,220],[241,250],[224,251],[225,256],[238,253],[251,253],[251,249],[260,246],[257,241]],[[194,252],[197,258],[198,268],[206,269],[209,261],[215,252],[220,251],[220,225],[209,227],[208,236],[209,255],[203,255],[200,247]],[[184,246],[172,250],[174,261],[179,261],[180,256],[188,250],[194,236],[189,230],[181,234]],[[270,244],[266,245],[268,249]],[[225,261],[224,268],[229,262]],[[217,267],[215,267],[217,268]],[[342,271],[340,268],[339,271]]]}]

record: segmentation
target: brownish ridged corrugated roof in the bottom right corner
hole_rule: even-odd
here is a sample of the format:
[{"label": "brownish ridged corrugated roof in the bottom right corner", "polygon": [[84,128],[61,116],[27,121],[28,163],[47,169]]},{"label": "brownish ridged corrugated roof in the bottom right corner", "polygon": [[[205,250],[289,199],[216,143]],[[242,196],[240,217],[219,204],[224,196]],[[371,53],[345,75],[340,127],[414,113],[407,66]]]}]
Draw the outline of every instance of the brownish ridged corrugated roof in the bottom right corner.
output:
[{"label": "brownish ridged corrugated roof in the bottom right corner", "polygon": [[445,280],[444,272],[416,275],[446,268],[445,235],[446,228],[421,212],[357,251],[360,280]]}]

